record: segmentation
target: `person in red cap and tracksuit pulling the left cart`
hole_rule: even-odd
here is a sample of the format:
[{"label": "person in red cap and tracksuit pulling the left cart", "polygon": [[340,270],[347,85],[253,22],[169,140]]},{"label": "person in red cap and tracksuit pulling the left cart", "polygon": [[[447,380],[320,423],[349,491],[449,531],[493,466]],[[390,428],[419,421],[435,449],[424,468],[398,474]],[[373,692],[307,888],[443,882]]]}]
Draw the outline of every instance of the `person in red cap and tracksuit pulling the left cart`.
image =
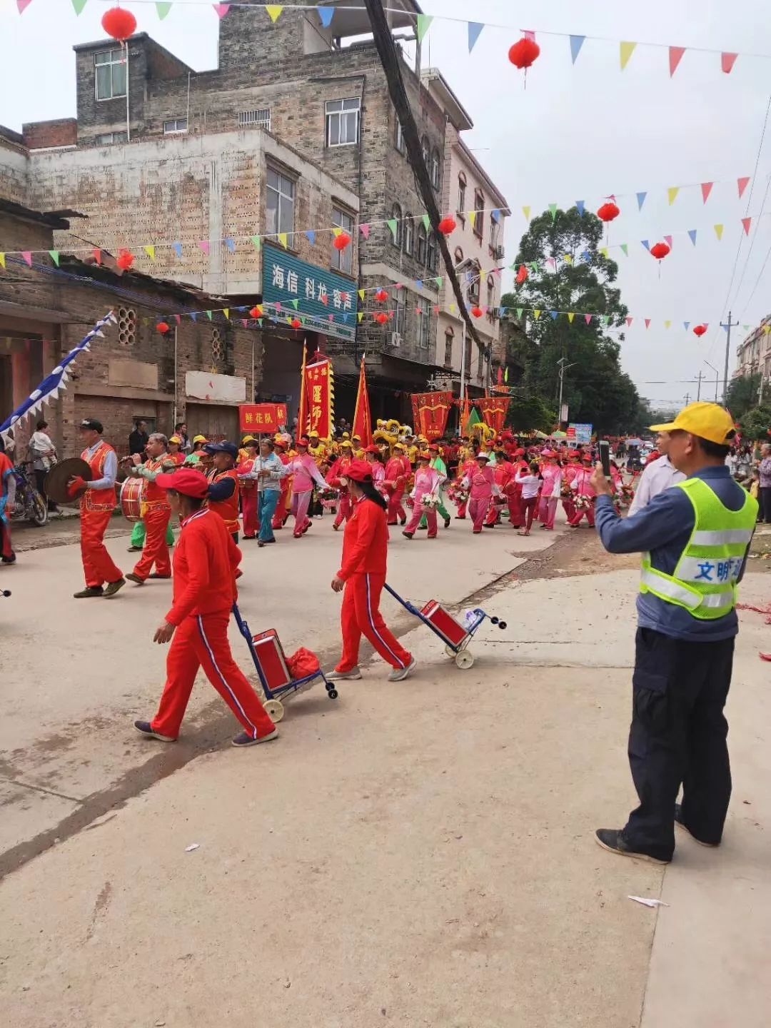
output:
[{"label": "person in red cap and tracksuit pulling the left cart", "polygon": [[209,483],[192,469],[155,479],[168,489],[182,524],[174,551],[174,603],[156,630],[154,642],[169,642],[167,682],[152,721],[135,721],[143,735],[174,742],[192,692],[195,675],[207,677],[244,727],[234,746],[274,739],[278,730],[233,660],[227,625],[235,602],[235,570],[241,550],[222,518],[203,507]]}]

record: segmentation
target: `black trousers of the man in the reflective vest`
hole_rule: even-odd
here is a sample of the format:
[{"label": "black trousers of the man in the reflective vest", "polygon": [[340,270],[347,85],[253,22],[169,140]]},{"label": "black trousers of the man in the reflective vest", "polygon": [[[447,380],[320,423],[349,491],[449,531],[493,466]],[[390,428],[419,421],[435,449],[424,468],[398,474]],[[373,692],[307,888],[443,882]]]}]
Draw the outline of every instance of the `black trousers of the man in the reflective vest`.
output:
[{"label": "black trousers of the man in the reflective vest", "polygon": [[718,843],[731,798],[728,722],[734,639],[685,642],[638,628],[632,676],[629,767],[639,806],[624,839],[668,860],[674,852],[674,803],[702,842]]}]

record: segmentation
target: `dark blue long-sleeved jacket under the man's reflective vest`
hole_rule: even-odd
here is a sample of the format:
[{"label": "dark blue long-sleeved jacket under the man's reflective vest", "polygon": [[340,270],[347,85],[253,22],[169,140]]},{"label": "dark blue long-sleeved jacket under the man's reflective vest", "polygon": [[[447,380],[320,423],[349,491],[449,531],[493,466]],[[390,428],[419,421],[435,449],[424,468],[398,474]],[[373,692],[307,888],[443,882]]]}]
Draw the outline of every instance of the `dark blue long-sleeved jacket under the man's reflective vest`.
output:
[{"label": "dark blue long-sleeved jacket under the man's reflective vest", "polygon": [[[744,505],[746,492],[731,478],[728,468],[702,468],[693,476],[701,478],[729,510]],[[672,486],[655,497],[648,507],[623,519],[616,513],[610,497],[597,497],[596,526],[602,546],[609,553],[645,553],[651,551],[653,566],[673,575],[694,529],[693,505],[683,489]],[[747,547],[747,550],[749,547]],[[744,556],[746,563],[746,554]],[[739,581],[744,575],[742,565]],[[668,603],[652,593],[637,596],[637,623],[663,635],[691,642],[731,638],[739,630],[736,612],[714,621],[694,618],[684,607]]]}]

